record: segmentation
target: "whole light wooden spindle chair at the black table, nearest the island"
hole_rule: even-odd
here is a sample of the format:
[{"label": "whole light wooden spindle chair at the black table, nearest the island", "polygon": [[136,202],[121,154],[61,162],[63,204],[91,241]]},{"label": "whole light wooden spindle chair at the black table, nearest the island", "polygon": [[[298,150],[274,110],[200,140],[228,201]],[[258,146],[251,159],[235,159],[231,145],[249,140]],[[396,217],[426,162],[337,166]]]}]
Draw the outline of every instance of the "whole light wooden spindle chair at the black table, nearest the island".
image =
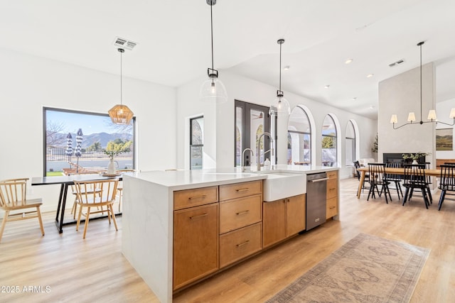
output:
[{"label": "whole light wooden spindle chair at the black table, nearest the island", "polygon": [[[85,216],[84,234],[82,238],[85,238],[87,233],[88,221],[90,214],[99,214],[104,210],[102,206],[107,207],[107,219],[109,224],[114,221],[115,230],[118,231],[117,221],[115,220],[114,209],[112,204],[115,202],[117,194],[117,186],[119,184],[118,179],[107,179],[107,180],[96,180],[96,181],[74,181],[76,192],[77,192],[77,205],[79,206],[79,214],[77,216],[76,231],[79,230],[80,218]],[[90,188],[100,189],[101,192],[90,192]],[[92,211],[92,208],[101,207],[101,210]],[[86,209],[86,212],[83,212]]]}]

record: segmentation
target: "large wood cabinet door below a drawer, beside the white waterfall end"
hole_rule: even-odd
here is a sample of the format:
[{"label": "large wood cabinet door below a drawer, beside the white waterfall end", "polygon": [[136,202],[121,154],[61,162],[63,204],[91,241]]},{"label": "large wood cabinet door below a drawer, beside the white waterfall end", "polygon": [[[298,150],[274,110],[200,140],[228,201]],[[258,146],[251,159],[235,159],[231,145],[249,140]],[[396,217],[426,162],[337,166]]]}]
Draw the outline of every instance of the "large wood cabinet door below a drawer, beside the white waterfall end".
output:
[{"label": "large wood cabinet door below a drawer, beside the white waterfall end", "polygon": [[217,270],[218,203],[174,211],[173,290]]}]

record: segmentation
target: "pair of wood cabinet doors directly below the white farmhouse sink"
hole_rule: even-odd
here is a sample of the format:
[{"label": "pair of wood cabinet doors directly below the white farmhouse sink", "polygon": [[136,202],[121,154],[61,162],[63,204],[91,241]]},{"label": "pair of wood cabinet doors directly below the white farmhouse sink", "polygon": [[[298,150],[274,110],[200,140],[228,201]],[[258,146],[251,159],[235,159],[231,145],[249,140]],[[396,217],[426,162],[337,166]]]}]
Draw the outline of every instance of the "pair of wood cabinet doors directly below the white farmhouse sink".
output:
[{"label": "pair of wood cabinet doors directly below the white farmhouse sink", "polygon": [[306,227],[306,195],[279,199],[263,203],[262,234],[263,246],[294,236]]}]

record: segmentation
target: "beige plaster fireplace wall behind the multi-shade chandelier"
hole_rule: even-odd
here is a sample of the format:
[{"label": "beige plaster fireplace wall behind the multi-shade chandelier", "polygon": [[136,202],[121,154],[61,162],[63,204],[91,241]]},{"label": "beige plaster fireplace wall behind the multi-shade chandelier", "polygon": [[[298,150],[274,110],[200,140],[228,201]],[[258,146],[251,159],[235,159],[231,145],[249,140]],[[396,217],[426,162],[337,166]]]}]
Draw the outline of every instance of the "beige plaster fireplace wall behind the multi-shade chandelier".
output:
[{"label": "beige plaster fireplace wall behind the multi-shade chandelier", "polygon": [[[435,108],[434,65],[422,66],[422,120]],[[407,114],[414,111],[416,125],[393,129],[390,116],[397,114],[397,126],[407,123]],[[441,114],[439,114],[441,115]],[[447,114],[449,116],[449,114]],[[435,125],[420,121],[420,68],[414,68],[379,83],[378,156],[383,153],[432,153],[428,162],[435,162]]]}]

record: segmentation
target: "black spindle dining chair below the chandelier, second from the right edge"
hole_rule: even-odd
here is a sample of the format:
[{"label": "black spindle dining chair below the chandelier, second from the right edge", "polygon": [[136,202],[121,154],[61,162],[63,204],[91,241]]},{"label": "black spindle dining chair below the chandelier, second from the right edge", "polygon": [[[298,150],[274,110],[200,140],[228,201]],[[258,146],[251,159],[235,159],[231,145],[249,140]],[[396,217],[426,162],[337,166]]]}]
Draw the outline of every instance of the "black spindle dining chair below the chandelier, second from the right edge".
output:
[{"label": "black spindle dining chair below the chandelier, second from the right edge", "polygon": [[419,189],[422,192],[422,197],[425,202],[425,207],[428,209],[429,198],[427,196],[427,179],[425,177],[424,165],[405,164],[405,175],[403,175],[403,186],[406,187],[405,197],[403,197],[403,206],[407,201],[410,201],[414,189]]}]

